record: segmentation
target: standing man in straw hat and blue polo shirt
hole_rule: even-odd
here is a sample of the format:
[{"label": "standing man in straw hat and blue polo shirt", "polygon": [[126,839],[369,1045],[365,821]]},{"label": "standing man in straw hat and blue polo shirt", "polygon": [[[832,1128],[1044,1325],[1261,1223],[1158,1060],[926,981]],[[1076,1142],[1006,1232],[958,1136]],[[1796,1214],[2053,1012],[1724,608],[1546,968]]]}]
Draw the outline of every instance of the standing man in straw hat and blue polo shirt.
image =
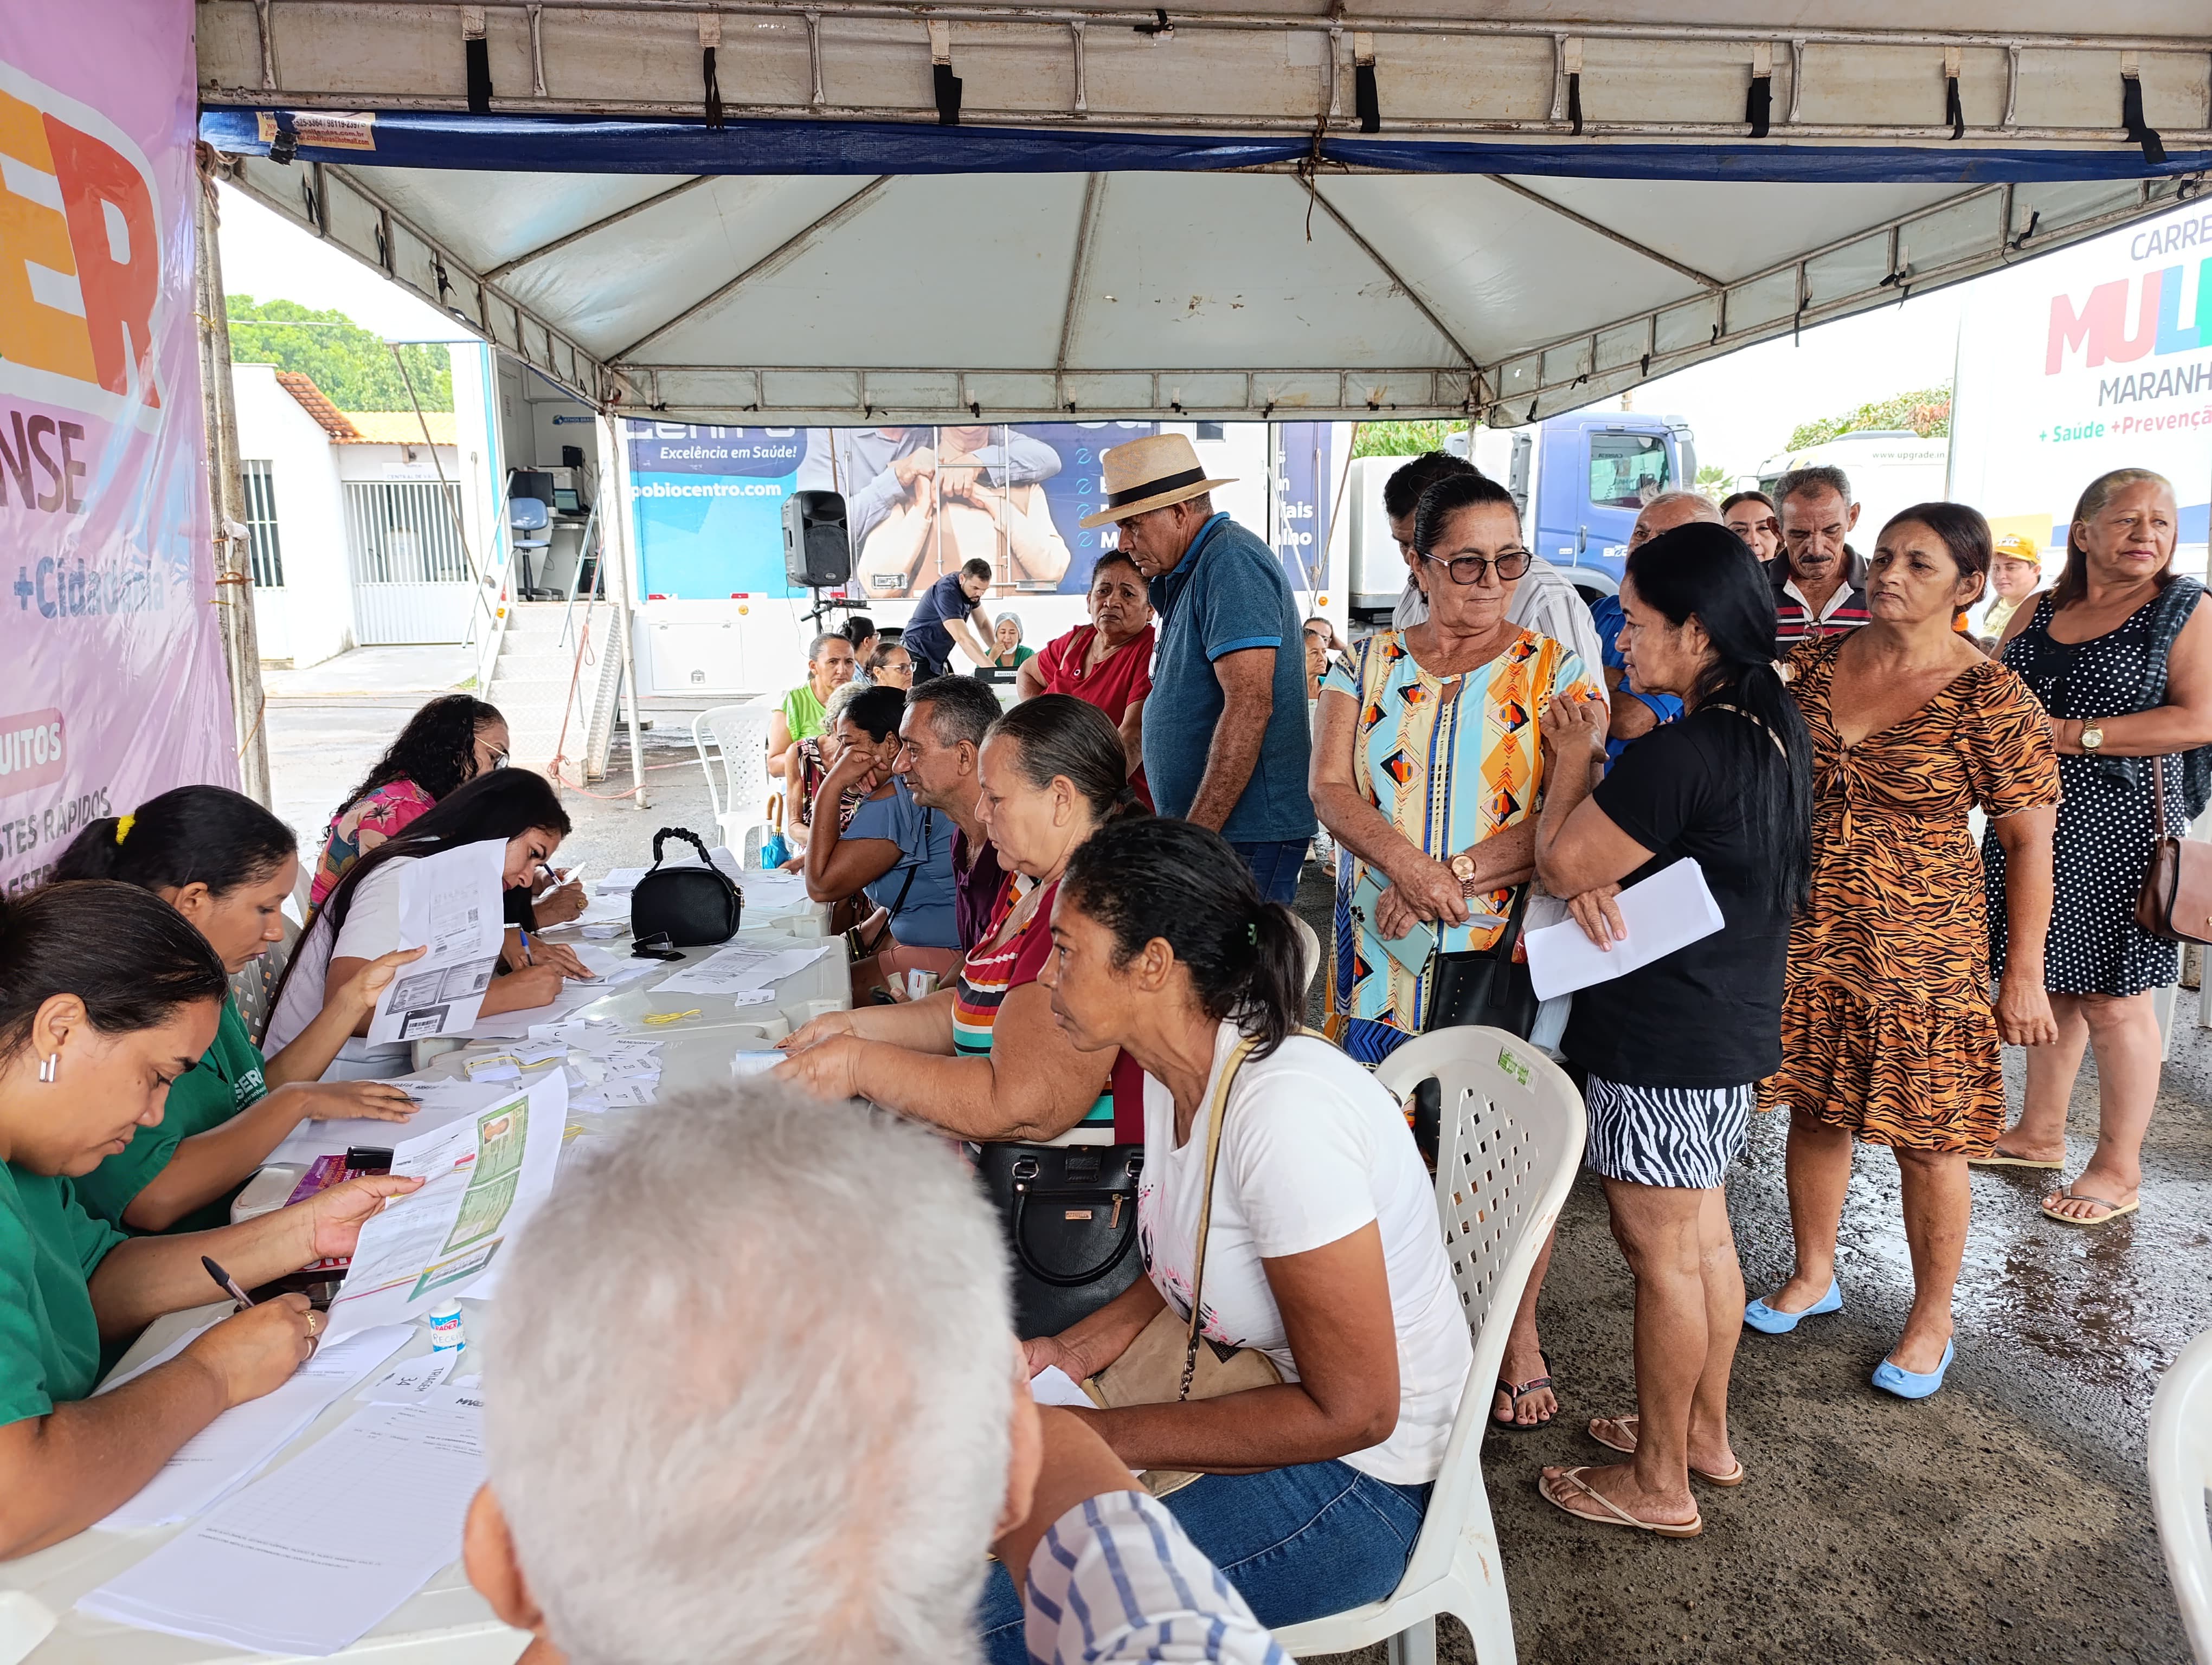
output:
[{"label": "standing man in straw hat and blue polo shirt", "polygon": [[1144,701],[1144,774],[1164,816],[1212,827],[1245,858],[1261,893],[1290,902],[1314,836],[1305,789],[1312,734],[1298,608],[1265,542],[1208,495],[1183,433],[1152,433],[1104,458],[1119,548],[1150,582],[1159,615]]}]

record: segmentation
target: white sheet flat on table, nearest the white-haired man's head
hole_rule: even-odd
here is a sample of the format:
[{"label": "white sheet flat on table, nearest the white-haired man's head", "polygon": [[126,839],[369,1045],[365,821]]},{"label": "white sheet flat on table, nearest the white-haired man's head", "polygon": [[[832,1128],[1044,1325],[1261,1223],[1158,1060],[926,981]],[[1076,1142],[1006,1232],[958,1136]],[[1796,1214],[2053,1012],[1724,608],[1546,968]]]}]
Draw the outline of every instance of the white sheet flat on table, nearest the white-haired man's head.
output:
[{"label": "white sheet flat on table, nearest the white-haired man's head", "polygon": [[482,1479],[473,1395],[369,1406],[77,1605],[263,1654],[336,1654],[460,1557]]}]

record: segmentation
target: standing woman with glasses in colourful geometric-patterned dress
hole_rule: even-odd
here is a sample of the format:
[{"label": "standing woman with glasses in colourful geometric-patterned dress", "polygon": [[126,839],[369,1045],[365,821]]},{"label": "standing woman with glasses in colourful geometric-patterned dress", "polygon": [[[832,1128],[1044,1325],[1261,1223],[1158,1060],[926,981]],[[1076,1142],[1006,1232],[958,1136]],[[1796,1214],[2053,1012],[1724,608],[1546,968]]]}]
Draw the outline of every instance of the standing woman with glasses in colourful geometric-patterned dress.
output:
[{"label": "standing woman with glasses in colourful geometric-patterned dress", "polygon": [[[1383,630],[1321,683],[1314,814],[1343,847],[1329,953],[1329,1035],[1378,1064],[1429,1024],[1433,960],[1409,971],[1385,946],[1416,922],[1438,951],[1486,949],[1535,873],[1535,811],[1546,754],[1537,719],[1559,697],[1604,703],[1604,685],[1559,641],[1506,619],[1528,570],[1513,498],[1482,475],[1447,475],[1420,495],[1413,582],[1429,617]],[[1354,920],[1367,873],[1374,920]],[[1551,1254],[1546,1245],[1546,1258]],[[1528,1278],[1498,1384],[1500,1426],[1551,1420],[1555,1397],[1535,1331],[1544,1260]]]}]

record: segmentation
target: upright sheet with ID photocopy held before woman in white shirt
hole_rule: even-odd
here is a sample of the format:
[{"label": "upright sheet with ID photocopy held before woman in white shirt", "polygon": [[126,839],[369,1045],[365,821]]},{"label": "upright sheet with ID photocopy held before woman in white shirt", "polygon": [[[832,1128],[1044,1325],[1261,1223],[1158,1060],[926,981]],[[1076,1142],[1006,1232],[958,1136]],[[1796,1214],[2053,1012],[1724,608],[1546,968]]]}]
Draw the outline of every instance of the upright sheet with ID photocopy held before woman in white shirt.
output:
[{"label": "upright sheet with ID photocopy held before woman in white shirt", "polygon": [[385,984],[369,1017],[369,1044],[458,1035],[476,1022],[500,964],[507,840],[403,862],[400,946],[429,946]]}]

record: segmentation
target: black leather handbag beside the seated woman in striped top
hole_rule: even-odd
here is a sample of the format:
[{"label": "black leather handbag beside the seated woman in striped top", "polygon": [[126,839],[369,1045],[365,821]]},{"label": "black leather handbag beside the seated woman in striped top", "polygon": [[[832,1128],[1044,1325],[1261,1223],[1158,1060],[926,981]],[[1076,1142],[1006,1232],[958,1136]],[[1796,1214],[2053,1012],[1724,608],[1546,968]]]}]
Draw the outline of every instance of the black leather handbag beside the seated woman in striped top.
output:
[{"label": "black leather handbag beside the seated woman in striped top", "polygon": [[1144,1145],[978,1145],[975,1174],[1013,1249],[1013,1331],[1057,1336],[1144,1276]]}]

